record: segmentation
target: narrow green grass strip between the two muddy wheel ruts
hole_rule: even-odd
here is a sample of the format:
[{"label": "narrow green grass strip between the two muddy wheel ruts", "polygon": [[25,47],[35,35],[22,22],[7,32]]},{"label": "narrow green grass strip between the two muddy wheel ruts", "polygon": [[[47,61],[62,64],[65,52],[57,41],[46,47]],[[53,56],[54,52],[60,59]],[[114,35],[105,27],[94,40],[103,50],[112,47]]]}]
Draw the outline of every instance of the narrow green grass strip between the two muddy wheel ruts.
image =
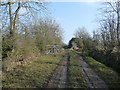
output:
[{"label": "narrow green grass strip between the two muddy wheel ruts", "polygon": [[69,88],[86,88],[86,82],[80,70],[79,62],[75,53],[70,53],[70,62],[68,67],[68,85]]}]

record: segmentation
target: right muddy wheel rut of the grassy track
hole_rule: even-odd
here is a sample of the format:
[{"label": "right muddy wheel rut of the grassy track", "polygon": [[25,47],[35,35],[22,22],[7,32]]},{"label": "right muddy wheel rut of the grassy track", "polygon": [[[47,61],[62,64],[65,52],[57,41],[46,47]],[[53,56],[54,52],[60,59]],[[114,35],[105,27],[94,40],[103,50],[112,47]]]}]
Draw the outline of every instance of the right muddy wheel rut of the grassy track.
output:
[{"label": "right muddy wheel rut of the grassy track", "polygon": [[105,82],[90,68],[81,56],[79,57],[79,63],[88,88],[104,88],[108,90]]}]

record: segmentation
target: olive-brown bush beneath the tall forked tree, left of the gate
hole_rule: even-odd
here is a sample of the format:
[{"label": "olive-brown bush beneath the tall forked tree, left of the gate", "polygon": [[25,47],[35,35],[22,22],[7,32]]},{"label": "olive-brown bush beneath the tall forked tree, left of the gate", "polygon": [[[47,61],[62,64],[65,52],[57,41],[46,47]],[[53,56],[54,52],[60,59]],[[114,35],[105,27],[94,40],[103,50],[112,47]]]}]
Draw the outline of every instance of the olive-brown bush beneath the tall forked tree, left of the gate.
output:
[{"label": "olive-brown bush beneath the tall forked tree, left of the gate", "polygon": [[[6,39],[8,40],[8,38]],[[6,55],[6,58],[3,59],[5,60],[3,65],[4,70],[9,71],[14,69],[16,66],[25,64],[28,60],[34,60],[39,55],[39,50],[30,38],[19,37],[12,44],[14,48],[8,47],[11,50],[3,51]],[[7,46],[9,46],[6,43],[3,43],[3,45],[6,45],[3,50],[6,50]]]}]

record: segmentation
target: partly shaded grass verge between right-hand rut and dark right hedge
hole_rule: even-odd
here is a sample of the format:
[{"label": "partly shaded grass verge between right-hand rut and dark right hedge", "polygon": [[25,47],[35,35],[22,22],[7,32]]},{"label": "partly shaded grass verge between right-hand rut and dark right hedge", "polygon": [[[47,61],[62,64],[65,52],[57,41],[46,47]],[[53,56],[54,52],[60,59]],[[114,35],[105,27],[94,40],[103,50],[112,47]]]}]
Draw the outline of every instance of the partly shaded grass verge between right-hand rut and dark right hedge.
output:
[{"label": "partly shaded grass verge between right-hand rut and dark right hedge", "polygon": [[120,88],[120,76],[115,71],[91,57],[87,57],[86,61],[91,68],[106,82],[109,88]]}]

